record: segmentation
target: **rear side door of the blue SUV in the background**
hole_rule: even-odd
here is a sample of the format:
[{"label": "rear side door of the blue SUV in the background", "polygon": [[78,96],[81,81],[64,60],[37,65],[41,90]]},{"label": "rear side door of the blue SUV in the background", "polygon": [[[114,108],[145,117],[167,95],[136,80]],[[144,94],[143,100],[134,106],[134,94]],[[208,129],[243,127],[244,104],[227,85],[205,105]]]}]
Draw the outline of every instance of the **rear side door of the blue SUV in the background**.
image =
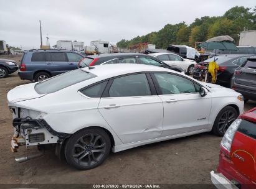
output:
[{"label": "rear side door of the blue SUV in the background", "polygon": [[52,76],[70,71],[65,52],[46,52],[45,65]]}]

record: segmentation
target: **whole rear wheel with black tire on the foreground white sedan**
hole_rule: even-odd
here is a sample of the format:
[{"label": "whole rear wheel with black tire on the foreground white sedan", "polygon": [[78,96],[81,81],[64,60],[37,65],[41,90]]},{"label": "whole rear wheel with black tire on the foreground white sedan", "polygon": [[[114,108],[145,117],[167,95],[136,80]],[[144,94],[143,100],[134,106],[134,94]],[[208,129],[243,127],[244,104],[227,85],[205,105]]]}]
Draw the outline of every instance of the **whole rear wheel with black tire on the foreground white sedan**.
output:
[{"label": "whole rear wheel with black tire on the foreground white sedan", "polygon": [[88,170],[102,164],[110,149],[110,137],[103,129],[88,128],[70,137],[65,145],[65,157],[69,165]]}]

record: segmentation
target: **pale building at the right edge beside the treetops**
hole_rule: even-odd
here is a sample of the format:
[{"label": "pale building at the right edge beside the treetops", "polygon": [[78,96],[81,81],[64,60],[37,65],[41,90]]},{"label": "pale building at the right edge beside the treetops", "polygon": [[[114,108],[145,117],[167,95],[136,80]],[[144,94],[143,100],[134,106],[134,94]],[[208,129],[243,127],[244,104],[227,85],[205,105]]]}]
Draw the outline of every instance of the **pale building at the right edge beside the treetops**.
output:
[{"label": "pale building at the right edge beside the treetops", "polygon": [[245,45],[256,47],[256,30],[240,32],[239,46]]}]

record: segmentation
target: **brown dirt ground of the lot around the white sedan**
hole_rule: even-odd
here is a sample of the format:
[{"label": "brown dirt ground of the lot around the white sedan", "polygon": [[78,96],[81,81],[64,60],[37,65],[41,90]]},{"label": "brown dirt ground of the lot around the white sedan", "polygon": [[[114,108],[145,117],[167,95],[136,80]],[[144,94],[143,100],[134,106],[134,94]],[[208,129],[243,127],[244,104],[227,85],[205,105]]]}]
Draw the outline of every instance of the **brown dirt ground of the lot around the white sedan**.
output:
[{"label": "brown dirt ground of the lot around the white sedan", "polygon": [[[19,56],[9,56],[18,62]],[[17,73],[0,80],[0,183],[211,183],[210,172],[219,160],[220,137],[210,133],[136,147],[110,157],[100,167],[78,171],[48,151],[18,164],[10,150],[13,134],[6,94],[22,81]],[[256,106],[249,101],[245,110]],[[22,151],[22,150],[21,150]],[[24,150],[25,153],[25,150]]]}]

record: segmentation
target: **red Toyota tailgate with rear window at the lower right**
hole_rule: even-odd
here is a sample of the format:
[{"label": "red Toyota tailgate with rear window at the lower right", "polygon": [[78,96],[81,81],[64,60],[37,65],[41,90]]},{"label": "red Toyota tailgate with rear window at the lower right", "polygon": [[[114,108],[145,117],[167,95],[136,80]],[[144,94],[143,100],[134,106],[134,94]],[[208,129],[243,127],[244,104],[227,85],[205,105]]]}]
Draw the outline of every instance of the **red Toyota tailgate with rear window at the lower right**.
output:
[{"label": "red Toyota tailgate with rear window at the lower right", "polygon": [[251,115],[252,119],[246,118],[247,113],[242,116],[243,120],[232,142],[230,159],[240,174],[256,182],[256,110],[249,114],[253,114],[254,118]]}]

